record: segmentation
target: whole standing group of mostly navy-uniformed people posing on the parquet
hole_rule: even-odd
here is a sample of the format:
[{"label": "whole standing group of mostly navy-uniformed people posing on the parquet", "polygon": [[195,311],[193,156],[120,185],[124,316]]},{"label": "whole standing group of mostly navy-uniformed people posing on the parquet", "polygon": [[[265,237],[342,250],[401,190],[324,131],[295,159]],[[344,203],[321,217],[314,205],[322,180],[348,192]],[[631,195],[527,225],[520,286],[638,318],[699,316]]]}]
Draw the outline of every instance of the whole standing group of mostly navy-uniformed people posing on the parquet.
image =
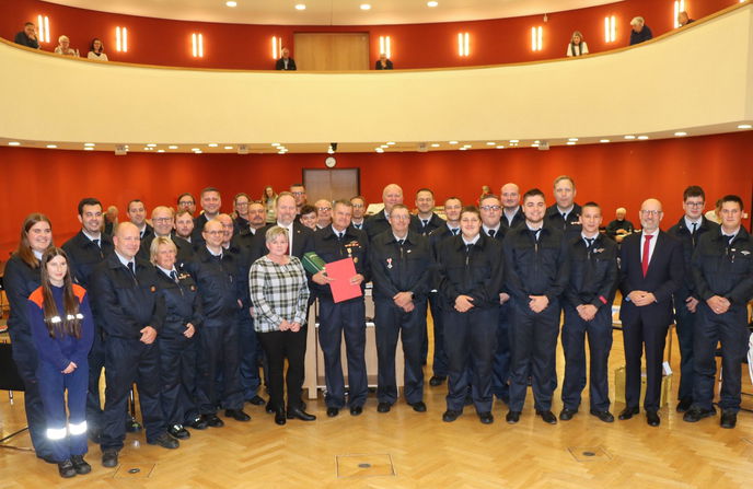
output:
[{"label": "whole standing group of mostly navy-uniformed people posing on the parquet", "polygon": [[[683,218],[667,232],[660,229],[662,203],[647,199],[638,212],[641,229],[622,235],[618,244],[600,232],[603,212],[598,203],[575,202],[572,178],[557,177],[553,190],[556,201],[548,207],[542,190],[521,196],[512,183],[499,195],[482,196],[477,206],[449,197],[443,219],[435,212],[430,189],[416,193],[417,212],[412,213],[403,189],[390,184],[383,210],[370,217],[364,218],[361,196],[317,202],[328,219],[317,219],[312,230],[299,219],[306,206],[300,184],[277,196],[276,222],[269,224],[260,202],[250,201],[243,216],[222,213],[220,191],[207,187],[196,218],[190,194],[178,197],[177,212],[154,208],[151,224],[143,202],[132,200],[129,221],[117,224],[112,236],[103,232],[101,201],[84,198],[78,206],[81,231],[60,248],[53,244],[49,219],[30,214],[7,265],[4,286],[13,357],[26,386],[37,456],[58,464],[62,477],[86,474],[88,434],[101,445],[103,465],[116,466],[131,426],[134,385],[147,442],[166,449],[190,436],[186,428],[222,427],[220,410],[227,419],[248,421],[244,403],[265,404],[258,395],[263,380],[270,392],[266,410],[275,414],[275,422],[314,420],[301,399],[301,337],[313,327],[305,324],[303,311],[314,299],[326,416],[345,408],[361,415],[369,392],[368,282],[373,288],[380,414],[389,412],[398,397],[398,338],[405,400],[416,412],[427,410],[422,365],[430,310],[428,384],[448,383],[443,421],[454,421],[472,405],[482,423],[493,423],[496,397],[508,405],[507,422],[517,423],[530,385],[535,414],[557,423],[552,401],[561,330],[559,420],[578,414],[588,368],[589,412],[613,422],[607,360],[612,304],[619,290],[626,406],[618,418],[639,412],[645,350],[646,420],[660,424],[664,342],[676,323],[682,354],[677,411],[688,422],[716,414],[715,352],[721,342],[720,423],[733,428],[749,340],[746,303],[753,299],[753,240],[741,225],[742,199],[720,199],[718,225],[703,217],[703,189],[691,186],[683,195]],[[235,199],[243,196],[250,200],[246,194]],[[310,252],[324,263],[350,258],[355,275],[348,282],[360,287],[361,295],[336,301],[332,284],[338,279],[326,269],[308,272],[303,284],[301,260]],[[291,368],[283,406],[286,356]],[[265,358],[274,364],[266,363],[260,374]]]}]

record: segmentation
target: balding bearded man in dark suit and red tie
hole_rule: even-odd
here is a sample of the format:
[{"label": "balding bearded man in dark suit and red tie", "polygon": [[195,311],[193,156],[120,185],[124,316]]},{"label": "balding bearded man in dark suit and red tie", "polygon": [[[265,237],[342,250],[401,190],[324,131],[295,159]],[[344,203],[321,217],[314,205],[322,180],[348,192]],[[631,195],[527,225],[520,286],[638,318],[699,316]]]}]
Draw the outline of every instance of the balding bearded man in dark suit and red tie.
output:
[{"label": "balding bearded man in dark suit and red tie", "polygon": [[660,423],[662,360],[667,331],[672,323],[672,294],[682,284],[682,244],[659,229],[664,217],[661,202],[647,199],[640,206],[640,233],[630,234],[619,251],[619,318],[625,344],[625,409],[619,419],[638,414],[640,358],[646,347],[646,421]]}]

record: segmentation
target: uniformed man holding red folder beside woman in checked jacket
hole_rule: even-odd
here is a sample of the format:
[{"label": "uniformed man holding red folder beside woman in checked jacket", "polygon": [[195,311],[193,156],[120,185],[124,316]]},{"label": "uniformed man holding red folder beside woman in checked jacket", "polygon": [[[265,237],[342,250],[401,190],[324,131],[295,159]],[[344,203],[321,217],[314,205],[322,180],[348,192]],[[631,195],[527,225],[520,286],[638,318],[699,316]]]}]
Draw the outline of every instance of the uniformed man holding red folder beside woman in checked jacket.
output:
[{"label": "uniformed man holding red folder beside woman in checked jacket", "polygon": [[[327,393],[324,398],[327,416],[334,418],[345,407],[345,380],[340,365],[340,338],[345,333],[348,358],[348,391],[350,415],[363,412],[368,393],[366,374],[366,306],[363,287],[369,281],[368,241],[363,231],[350,225],[352,203],[336,200],[333,206],[332,225],[314,233],[314,252],[325,263],[351,259],[355,275],[333,277],[322,270],[311,277],[312,292],[318,298],[318,341],[324,352],[324,377]],[[333,288],[347,280],[357,284],[361,294],[341,302],[333,299]]]}]

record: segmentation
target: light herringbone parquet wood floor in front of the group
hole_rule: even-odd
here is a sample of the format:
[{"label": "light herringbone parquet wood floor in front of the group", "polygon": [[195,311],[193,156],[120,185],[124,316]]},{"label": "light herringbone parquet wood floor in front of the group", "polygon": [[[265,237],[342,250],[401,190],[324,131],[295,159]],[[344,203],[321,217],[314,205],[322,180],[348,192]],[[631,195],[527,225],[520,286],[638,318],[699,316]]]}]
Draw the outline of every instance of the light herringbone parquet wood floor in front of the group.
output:
[{"label": "light herringbone parquet wood floor in front of the group", "polygon": [[[622,335],[615,331],[614,337],[612,371],[624,363]],[[673,345],[672,369],[677,372],[676,338]],[[561,381],[561,348],[558,356]],[[611,374],[612,389],[613,381]],[[753,392],[746,372],[743,389]],[[426,414],[401,401],[391,412],[378,414],[376,400],[370,396],[362,416],[351,417],[346,410],[328,419],[320,397],[309,408],[317,421],[277,427],[262,407],[247,405],[251,422],[227,420],[224,428],[194,431],[176,451],[147,445],[143,434],[129,434],[118,469],[103,468],[99,447],[90,444],[93,471],[70,480],[60,479],[56,466],[33,453],[0,450],[0,487],[750,488],[753,414],[741,412],[734,430],[720,429],[718,417],[685,423],[674,412],[676,374],[672,391],[670,406],[660,410],[660,428],[648,427],[642,412],[629,421],[602,423],[588,415],[587,398],[571,421],[554,427],[534,417],[531,397],[517,426],[505,422],[502,404],[495,405],[494,424],[480,424],[473,408],[454,423],[444,423],[444,385],[427,386]],[[559,389],[555,414],[561,408],[558,396]],[[753,398],[744,404],[753,407]],[[622,408],[617,404],[613,412]],[[0,393],[0,421],[3,436],[25,426],[23,395],[16,394],[11,405]],[[11,444],[31,446],[27,434],[15,436]],[[141,470],[129,475],[134,467]]]}]

